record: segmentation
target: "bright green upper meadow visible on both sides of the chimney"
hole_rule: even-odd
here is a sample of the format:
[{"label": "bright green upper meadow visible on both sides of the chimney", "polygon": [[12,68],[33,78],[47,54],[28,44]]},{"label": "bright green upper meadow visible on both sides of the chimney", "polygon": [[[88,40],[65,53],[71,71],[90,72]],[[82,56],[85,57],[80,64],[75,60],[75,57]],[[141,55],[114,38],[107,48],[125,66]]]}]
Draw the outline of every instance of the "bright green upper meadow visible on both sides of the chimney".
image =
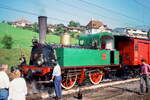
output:
[{"label": "bright green upper meadow visible on both sides of the chimney", "polygon": [[[32,32],[29,30],[24,30],[20,28],[12,27],[11,25],[0,23],[0,41],[4,37],[4,35],[11,35],[13,38],[13,48],[29,48],[32,45],[32,38],[36,37],[38,39],[38,33]],[[48,43],[59,43],[60,37],[57,35],[47,35],[46,41]],[[77,43],[75,39],[72,39],[72,44]],[[0,48],[3,45],[0,43]]]}]

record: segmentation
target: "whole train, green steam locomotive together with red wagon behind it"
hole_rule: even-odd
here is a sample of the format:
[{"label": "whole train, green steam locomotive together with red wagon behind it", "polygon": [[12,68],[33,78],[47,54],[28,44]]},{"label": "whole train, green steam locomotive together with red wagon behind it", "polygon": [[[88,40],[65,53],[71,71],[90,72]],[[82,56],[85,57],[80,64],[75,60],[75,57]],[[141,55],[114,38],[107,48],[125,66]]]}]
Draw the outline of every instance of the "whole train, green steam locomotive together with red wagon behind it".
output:
[{"label": "whole train, green steam locomotive together with red wagon behind it", "polygon": [[39,29],[40,39],[32,41],[29,64],[18,65],[24,76],[36,81],[51,79],[52,60],[61,66],[61,86],[65,89],[83,83],[85,79],[99,84],[110,73],[138,75],[140,60],[145,58],[150,63],[149,40],[104,32],[80,36],[78,45],[68,44],[67,39],[64,44],[47,44],[45,16],[39,17]]}]

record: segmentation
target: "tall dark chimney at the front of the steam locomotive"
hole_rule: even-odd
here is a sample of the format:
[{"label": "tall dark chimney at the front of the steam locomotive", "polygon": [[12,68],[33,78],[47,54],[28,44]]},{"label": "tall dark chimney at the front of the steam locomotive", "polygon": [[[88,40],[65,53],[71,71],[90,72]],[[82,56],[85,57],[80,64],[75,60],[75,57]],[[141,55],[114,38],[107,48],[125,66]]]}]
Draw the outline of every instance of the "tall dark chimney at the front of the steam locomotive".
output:
[{"label": "tall dark chimney at the front of the steam locomotive", "polygon": [[45,43],[46,33],[47,33],[47,17],[46,16],[39,16],[39,42],[41,44]]}]

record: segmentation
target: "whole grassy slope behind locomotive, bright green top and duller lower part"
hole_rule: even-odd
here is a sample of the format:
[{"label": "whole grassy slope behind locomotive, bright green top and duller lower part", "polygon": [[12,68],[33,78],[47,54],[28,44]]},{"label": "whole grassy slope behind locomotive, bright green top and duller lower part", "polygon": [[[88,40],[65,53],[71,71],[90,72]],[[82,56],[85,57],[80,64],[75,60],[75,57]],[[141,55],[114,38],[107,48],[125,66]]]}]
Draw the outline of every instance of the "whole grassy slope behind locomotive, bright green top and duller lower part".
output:
[{"label": "whole grassy slope behind locomotive, bright green top and duller lower part", "polygon": [[[4,49],[1,40],[5,35],[11,35],[13,38],[12,49]],[[38,38],[38,33],[29,30],[12,27],[11,25],[0,23],[0,64],[9,64],[16,66],[19,64],[19,57],[24,54],[29,62],[32,38]],[[47,35],[47,43],[60,43],[60,37],[57,35]],[[72,44],[77,44],[76,39],[72,39]]]}]

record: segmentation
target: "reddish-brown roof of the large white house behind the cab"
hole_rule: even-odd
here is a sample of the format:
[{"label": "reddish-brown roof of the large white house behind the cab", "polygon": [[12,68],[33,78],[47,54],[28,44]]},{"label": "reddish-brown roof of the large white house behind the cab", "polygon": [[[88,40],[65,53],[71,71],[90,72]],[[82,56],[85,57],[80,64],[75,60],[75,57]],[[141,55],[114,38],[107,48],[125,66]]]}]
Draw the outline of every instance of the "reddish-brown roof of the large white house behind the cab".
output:
[{"label": "reddish-brown roof of the large white house behind the cab", "polygon": [[87,28],[99,28],[101,26],[107,27],[101,21],[96,21],[96,20],[92,20],[86,25]]}]

